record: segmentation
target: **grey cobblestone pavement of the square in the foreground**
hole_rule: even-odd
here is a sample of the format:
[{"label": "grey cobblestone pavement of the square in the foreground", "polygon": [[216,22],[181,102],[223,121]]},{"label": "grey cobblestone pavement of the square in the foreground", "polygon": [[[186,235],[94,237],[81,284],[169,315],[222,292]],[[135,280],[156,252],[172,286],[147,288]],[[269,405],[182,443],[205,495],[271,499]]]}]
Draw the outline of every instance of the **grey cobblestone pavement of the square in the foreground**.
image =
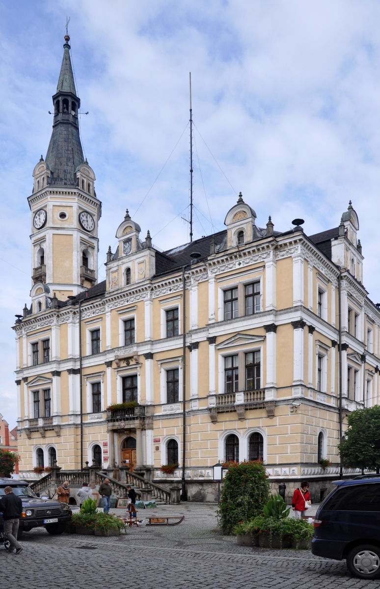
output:
[{"label": "grey cobblestone pavement of the square in the foreground", "polygon": [[[117,514],[124,510],[112,509]],[[128,528],[102,538],[24,533],[20,555],[0,548],[1,587],[7,589],[378,589],[378,581],[352,578],[345,562],[313,557],[310,551],[236,545],[217,532],[216,507],[164,505],[147,515],[185,515],[174,527]]]}]

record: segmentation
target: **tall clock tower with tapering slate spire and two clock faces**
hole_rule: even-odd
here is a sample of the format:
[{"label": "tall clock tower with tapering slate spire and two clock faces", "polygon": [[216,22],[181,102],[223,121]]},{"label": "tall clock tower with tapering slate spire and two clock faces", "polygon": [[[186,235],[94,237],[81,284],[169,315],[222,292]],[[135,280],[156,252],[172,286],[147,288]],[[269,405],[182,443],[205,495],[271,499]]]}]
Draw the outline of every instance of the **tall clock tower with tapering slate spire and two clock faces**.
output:
[{"label": "tall clock tower with tapering slate spire and two clock faces", "polygon": [[66,300],[97,283],[98,220],[101,202],[95,174],[85,160],[79,133],[80,98],[70,59],[70,37],[64,55],[54,111],[51,139],[44,158],[33,171],[31,209],[32,305],[44,310],[55,293]]}]

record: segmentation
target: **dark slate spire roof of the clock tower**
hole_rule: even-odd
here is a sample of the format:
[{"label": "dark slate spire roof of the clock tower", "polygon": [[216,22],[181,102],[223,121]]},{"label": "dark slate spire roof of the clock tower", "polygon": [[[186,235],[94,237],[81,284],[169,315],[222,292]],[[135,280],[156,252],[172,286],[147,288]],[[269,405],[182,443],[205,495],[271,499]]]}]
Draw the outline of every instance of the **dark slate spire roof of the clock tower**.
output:
[{"label": "dark slate spire roof of the clock tower", "polygon": [[[70,45],[64,45],[64,57],[57,92],[61,97],[72,100],[75,92],[74,77],[70,61]],[[56,95],[55,95],[56,98]],[[71,104],[71,102],[69,102]],[[70,109],[70,107],[69,107]],[[75,170],[84,163],[81,140],[79,136],[78,118],[60,114],[54,116],[53,130],[45,161],[52,171],[51,186],[75,186],[77,181]]]}]

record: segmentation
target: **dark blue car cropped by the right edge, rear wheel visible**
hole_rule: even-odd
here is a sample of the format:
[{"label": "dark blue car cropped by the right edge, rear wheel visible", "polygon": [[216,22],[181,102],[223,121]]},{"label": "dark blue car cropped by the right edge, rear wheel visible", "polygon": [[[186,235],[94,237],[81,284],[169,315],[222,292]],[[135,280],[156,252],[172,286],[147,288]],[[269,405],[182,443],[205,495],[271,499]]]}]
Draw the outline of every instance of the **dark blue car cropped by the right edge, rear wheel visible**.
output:
[{"label": "dark blue car cropped by the right edge, rear wheel visible", "polygon": [[380,478],[375,475],[336,481],[316,512],[312,553],[346,559],[361,579],[380,577]]}]

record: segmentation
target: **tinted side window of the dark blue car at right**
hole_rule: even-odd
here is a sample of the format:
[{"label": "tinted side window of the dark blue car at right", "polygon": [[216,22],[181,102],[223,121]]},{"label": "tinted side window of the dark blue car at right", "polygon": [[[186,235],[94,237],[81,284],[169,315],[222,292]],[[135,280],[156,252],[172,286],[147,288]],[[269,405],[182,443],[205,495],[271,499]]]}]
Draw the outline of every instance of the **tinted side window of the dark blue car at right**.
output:
[{"label": "tinted side window of the dark blue car at right", "polygon": [[326,505],[323,505],[323,509],[380,511],[380,483],[340,488]]}]

